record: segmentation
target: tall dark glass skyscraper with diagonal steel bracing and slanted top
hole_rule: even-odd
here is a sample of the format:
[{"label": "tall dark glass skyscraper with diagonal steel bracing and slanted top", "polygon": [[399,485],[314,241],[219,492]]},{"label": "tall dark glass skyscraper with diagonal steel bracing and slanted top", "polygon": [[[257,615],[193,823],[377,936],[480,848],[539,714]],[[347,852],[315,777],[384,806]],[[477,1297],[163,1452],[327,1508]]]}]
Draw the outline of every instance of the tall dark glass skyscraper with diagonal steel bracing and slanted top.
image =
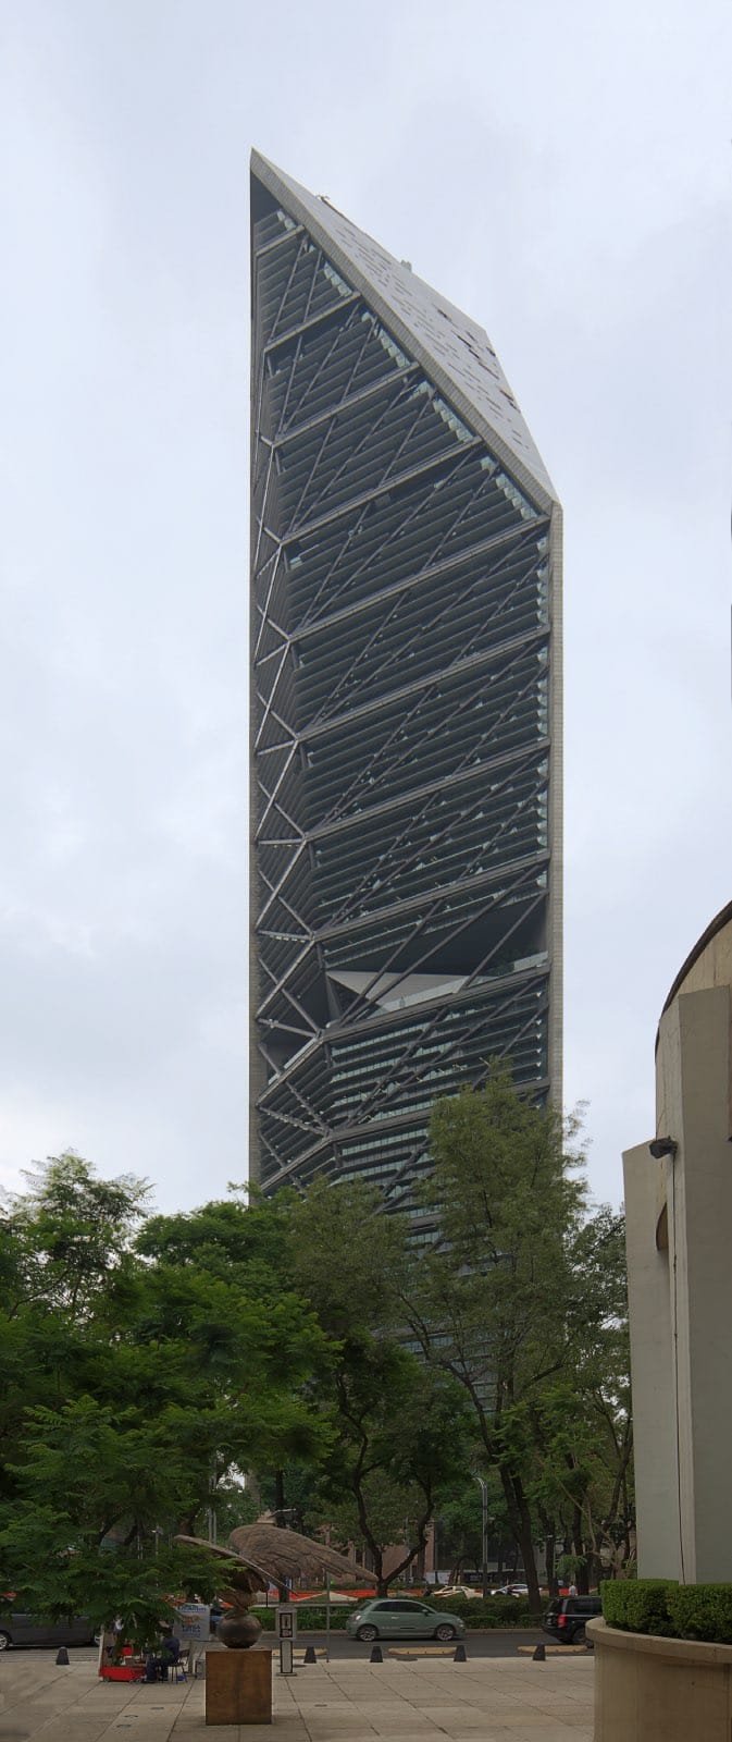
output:
[{"label": "tall dark glass skyscraper with diagonal steel bracing and slanted top", "polygon": [[398,1204],[435,1096],[556,1089],[556,505],[485,334],[261,159],[252,296],[252,1172]]}]

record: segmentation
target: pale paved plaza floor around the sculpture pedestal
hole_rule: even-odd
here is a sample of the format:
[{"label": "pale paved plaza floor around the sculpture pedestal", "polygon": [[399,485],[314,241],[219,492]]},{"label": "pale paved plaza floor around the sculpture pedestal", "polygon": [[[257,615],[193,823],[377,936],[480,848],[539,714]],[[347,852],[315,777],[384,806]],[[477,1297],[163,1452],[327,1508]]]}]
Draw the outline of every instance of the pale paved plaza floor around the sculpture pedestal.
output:
[{"label": "pale paved plaza floor around the sculpture pedestal", "polygon": [[591,1742],[593,1658],[341,1660],[273,1678],[273,1723],[205,1726],[205,1683],[99,1681],[96,1653],[0,1657],[0,1742]]}]

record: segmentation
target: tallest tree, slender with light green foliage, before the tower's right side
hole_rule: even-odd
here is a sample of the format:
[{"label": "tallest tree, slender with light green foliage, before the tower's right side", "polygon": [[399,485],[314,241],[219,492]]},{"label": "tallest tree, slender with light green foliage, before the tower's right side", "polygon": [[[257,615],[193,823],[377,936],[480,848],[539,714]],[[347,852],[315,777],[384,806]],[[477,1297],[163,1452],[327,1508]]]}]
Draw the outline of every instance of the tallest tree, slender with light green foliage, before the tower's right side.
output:
[{"label": "tallest tree, slender with light green foliage, before the tower's right side", "polygon": [[570,1252],[586,1202],[569,1136],[504,1070],[485,1089],[436,1101],[424,1202],[442,1239],[402,1289],[412,1334],[461,1387],[482,1458],[499,1475],[534,1613],[536,1406],[567,1367]]}]

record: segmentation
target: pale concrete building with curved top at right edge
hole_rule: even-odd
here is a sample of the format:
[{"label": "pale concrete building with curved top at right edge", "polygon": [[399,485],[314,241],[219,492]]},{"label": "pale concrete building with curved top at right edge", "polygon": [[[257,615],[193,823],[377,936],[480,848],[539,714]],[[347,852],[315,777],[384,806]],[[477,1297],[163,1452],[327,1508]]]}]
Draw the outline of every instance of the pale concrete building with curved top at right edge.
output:
[{"label": "pale concrete building with curved top at right edge", "polygon": [[732,1580],[732,904],[655,1040],[655,1138],[624,1155],[638,1573]]}]

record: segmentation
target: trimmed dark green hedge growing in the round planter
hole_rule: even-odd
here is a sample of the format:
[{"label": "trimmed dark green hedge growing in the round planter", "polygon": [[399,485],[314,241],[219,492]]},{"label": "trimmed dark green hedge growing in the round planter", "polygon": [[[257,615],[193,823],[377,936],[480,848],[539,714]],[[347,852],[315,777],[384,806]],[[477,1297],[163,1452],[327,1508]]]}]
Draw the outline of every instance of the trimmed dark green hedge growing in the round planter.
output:
[{"label": "trimmed dark green hedge growing in the round planter", "polygon": [[609,1580],[600,1585],[609,1627],[666,1639],[732,1644],[732,1585],[676,1585],[664,1578]]}]

